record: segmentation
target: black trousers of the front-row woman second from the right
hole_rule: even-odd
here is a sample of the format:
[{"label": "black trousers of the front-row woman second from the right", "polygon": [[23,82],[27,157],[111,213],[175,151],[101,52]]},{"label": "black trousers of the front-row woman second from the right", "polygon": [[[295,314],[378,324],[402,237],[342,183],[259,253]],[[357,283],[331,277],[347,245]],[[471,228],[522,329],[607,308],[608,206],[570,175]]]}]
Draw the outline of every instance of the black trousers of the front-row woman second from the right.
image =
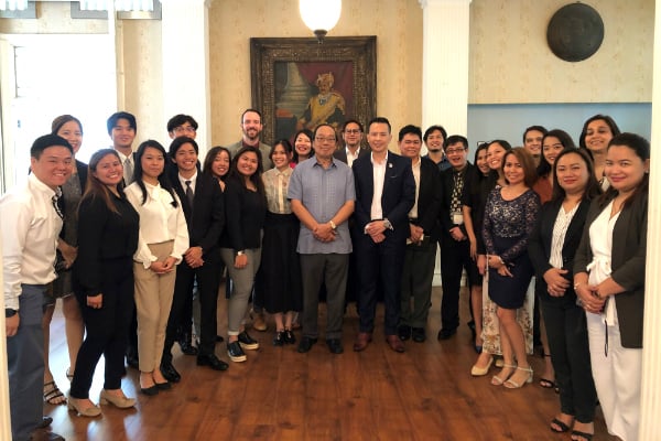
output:
[{"label": "black trousers of the front-row woman second from the right", "polygon": [[575,416],[581,422],[592,422],[597,392],[589,362],[585,311],[570,293],[560,298],[544,294],[540,300],[555,384],[560,388],[561,411]]}]

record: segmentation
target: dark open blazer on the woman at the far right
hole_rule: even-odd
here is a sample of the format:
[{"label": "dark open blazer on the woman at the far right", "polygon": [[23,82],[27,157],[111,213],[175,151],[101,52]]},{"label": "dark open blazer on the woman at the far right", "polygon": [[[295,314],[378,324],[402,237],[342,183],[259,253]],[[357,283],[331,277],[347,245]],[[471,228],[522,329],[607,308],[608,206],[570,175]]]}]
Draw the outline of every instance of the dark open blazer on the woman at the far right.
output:
[{"label": "dark open blazer on the woman at the far right", "polygon": [[[609,202],[609,201],[607,201]],[[589,227],[604,211],[600,198],[593,201],[585,219],[581,244],[574,258],[574,273],[586,272],[593,260]],[[644,255],[647,250],[648,194],[636,197],[624,207],[613,228],[610,277],[625,288],[625,292],[613,295],[624,347],[642,347],[642,318],[644,312]]]}]

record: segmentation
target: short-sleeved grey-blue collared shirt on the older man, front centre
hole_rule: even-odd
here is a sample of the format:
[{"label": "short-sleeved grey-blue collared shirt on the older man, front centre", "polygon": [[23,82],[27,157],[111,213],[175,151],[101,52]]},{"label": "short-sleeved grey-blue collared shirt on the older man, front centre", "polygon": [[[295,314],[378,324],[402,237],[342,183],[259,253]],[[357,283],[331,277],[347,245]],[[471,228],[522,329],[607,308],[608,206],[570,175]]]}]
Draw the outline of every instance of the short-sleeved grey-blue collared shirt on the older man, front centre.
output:
[{"label": "short-sleeved grey-blue collared shirt on the older man, front centre", "polygon": [[[286,197],[301,201],[317,223],[327,223],[344,204],[356,200],[354,173],[347,164],[336,159],[327,169],[315,159],[303,161],[292,173]],[[301,224],[296,250],[306,255],[351,252],[348,222],[337,225],[336,233],[335,240],[323,243]]]}]

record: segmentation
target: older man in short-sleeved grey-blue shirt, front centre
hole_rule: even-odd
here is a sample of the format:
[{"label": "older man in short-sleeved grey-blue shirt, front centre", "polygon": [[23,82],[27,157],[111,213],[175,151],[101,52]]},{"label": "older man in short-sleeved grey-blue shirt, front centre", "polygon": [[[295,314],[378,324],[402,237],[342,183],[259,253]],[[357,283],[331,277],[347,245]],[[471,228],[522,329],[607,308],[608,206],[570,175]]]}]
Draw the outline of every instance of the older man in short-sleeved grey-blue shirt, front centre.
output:
[{"label": "older man in short-sleeved grey-blue shirt, front centre", "polygon": [[326,282],[326,345],[342,354],[342,322],[351,252],[348,218],[354,213],[354,174],[333,158],[337,135],[329,125],[314,131],[315,157],[301,162],[290,179],[288,197],[301,220],[297,251],[303,273],[303,338],[299,352],[306,353],[317,342],[318,293]]}]

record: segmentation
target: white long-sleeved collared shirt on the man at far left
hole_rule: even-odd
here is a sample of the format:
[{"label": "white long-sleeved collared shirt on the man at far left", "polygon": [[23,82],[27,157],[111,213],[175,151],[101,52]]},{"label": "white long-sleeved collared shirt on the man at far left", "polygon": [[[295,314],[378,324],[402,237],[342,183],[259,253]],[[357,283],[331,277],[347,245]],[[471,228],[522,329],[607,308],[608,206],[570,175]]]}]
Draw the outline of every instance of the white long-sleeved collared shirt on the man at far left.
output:
[{"label": "white long-sleeved collared shirt on the man at far left", "polygon": [[55,275],[55,248],[62,218],[54,207],[56,193],[34,174],[0,197],[0,237],[4,308],[19,309],[21,283],[46,284]]}]

